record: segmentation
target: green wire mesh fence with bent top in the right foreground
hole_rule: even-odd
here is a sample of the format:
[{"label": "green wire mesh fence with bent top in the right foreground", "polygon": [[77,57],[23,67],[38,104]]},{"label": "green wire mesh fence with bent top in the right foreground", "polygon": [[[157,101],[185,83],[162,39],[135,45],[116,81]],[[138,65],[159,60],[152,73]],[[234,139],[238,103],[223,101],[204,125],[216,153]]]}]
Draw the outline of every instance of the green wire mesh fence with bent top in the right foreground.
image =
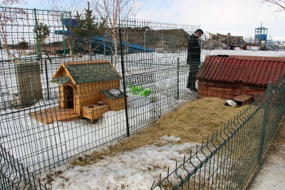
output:
[{"label": "green wire mesh fence with bent top in the right foreground", "polygon": [[151,189],[248,189],[280,130],[284,98],[285,75]]}]

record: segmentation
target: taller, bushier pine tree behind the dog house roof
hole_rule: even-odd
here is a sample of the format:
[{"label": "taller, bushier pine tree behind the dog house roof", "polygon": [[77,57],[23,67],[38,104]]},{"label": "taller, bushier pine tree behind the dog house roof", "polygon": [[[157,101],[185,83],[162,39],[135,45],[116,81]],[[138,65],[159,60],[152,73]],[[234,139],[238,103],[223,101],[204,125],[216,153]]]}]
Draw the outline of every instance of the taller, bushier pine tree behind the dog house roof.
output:
[{"label": "taller, bushier pine tree behind the dog house roof", "polygon": [[95,16],[92,15],[92,10],[90,10],[90,3],[88,2],[88,8],[85,9],[84,19],[82,18],[81,14],[76,12],[76,19],[77,19],[77,27],[75,27],[73,31],[73,36],[75,38],[79,38],[84,41],[84,43],[78,44],[83,49],[89,52],[89,60],[92,60],[92,51],[94,51],[98,46],[92,46],[92,40],[95,36],[101,35],[104,33],[104,25],[103,23],[95,22]]}]

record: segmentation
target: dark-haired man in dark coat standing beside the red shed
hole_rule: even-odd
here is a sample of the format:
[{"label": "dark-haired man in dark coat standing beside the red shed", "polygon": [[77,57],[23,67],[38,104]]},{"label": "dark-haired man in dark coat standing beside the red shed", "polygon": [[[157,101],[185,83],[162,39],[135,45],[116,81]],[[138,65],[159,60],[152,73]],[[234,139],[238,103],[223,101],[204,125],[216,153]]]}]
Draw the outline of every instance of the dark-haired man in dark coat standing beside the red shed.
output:
[{"label": "dark-haired man in dark coat standing beside the red shed", "polygon": [[196,75],[198,73],[201,60],[201,48],[198,39],[203,35],[203,31],[198,29],[187,39],[187,64],[190,66],[190,72],[187,79],[187,86],[190,90],[198,92],[196,88]]}]

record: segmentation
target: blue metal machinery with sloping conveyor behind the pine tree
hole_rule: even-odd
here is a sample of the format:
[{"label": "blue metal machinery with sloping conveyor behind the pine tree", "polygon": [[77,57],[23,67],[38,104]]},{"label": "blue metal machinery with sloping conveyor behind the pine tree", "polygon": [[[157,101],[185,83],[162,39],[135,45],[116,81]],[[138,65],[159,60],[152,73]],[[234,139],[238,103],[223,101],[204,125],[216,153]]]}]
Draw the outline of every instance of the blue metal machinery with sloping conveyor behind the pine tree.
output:
[{"label": "blue metal machinery with sloping conveyor behind the pine tree", "polygon": [[[62,23],[66,27],[66,30],[57,30],[54,31],[55,34],[58,35],[71,35],[70,27],[77,27],[76,19],[62,19]],[[78,41],[83,41],[82,39],[77,39]],[[119,42],[117,42],[119,44]],[[127,42],[122,42],[124,53],[139,53],[139,52],[155,52],[155,50],[142,47],[138,44],[131,44]],[[114,41],[110,37],[103,36],[95,36],[92,40],[92,46],[98,46],[97,52],[98,54],[111,54],[114,52]],[[118,47],[117,53],[120,53],[120,47]]]}]

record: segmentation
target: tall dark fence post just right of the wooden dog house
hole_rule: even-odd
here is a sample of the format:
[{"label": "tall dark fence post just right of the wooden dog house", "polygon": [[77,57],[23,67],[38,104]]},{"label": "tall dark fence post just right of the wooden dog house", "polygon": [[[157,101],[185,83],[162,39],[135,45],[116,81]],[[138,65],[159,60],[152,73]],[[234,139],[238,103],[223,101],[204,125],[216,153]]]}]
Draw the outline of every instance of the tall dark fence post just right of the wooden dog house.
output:
[{"label": "tall dark fence post just right of the wooden dog house", "polygon": [[119,41],[120,41],[120,51],[121,51],[121,69],[122,69],[122,77],[123,77],[125,114],[126,114],[126,123],[127,123],[127,136],[129,137],[130,136],[130,129],[129,129],[128,107],[127,107],[127,92],[126,92],[126,83],[125,83],[125,67],[124,67],[124,57],[123,57],[123,45],[122,45],[121,29],[119,29]]}]

